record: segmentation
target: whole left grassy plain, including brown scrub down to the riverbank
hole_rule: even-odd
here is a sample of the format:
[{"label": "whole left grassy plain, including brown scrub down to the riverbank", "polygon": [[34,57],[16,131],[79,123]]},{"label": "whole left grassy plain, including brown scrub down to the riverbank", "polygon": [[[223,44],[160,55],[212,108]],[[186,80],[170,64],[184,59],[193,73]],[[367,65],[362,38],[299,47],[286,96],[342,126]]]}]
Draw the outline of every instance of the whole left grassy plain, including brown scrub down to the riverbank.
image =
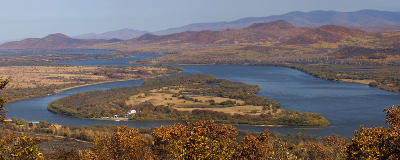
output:
[{"label": "whole left grassy plain, including brown scrub down to the riverbank", "polygon": [[169,66],[0,66],[1,79],[12,79],[0,96],[10,103],[76,87],[170,76],[182,71]]}]

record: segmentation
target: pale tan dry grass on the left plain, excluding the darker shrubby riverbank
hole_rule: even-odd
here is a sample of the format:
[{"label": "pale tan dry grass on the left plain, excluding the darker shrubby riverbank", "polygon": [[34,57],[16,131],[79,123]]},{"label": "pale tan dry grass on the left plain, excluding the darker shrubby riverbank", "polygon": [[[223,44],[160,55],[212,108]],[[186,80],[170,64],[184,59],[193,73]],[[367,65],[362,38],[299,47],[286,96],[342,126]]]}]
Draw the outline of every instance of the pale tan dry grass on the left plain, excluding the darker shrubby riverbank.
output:
[{"label": "pale tan dry grass on the left plain, excluding the darker shrubby riverbank", "polygon": [[[121,72],[122,70],[126,73]],[[4,66],[0,67],[0,77],[10,77],[12,81],[8,87],[11,88],[33,88],[76,82],[88,84],[152,78],[163,75],[165,70],[165,68],[152,66],[125,68],[118,66]]]}]

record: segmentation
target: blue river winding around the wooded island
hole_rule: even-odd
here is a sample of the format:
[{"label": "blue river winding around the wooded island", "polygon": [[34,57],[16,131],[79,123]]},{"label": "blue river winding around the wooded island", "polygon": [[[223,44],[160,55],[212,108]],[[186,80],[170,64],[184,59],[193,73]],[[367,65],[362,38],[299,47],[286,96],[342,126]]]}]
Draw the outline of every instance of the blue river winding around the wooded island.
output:
[{"label": "blue river winding around the wooded island", "polygon": [[[133,65],[127,61],[144,57],[160,55],[134,55],[134,58],[63,62],[75,65]],[[182,74],[211,74],[217,78],[230,81],[244,82],[259,85],[258,95],[274,99],[282,104],[283,109],[298,110],[300,112],[318,113],[333,125],[328,128],[304,127],[261,127],[235,126],[239,130],[261,132],[265,129],[286,134],[299,132],[318,136],[327,136],[336,133],[341,136],[353,136],[353,131],[360,125],[385,126],[384,108],[400,104],[400,94],[371,88],[366,85],[324,81],[291,68],[270,66],[243,66],[243,65],[177,65],[183,67]],[[113,87],[141,85],[143,80],[106,83],[86,86],[57,93],[50,96],[10,103],[5,105],[9,112],[7,117],[17,117],[25,120],[47,120],[60,125],[95,125],[112,124],[128,125],[132,127],[159,127],[172,125],[174,122],[133,122],[133,121],[105,121],[71,118],[56,115],[47,111],[47,104],[57,98],[70,94],[102,90]]]}]

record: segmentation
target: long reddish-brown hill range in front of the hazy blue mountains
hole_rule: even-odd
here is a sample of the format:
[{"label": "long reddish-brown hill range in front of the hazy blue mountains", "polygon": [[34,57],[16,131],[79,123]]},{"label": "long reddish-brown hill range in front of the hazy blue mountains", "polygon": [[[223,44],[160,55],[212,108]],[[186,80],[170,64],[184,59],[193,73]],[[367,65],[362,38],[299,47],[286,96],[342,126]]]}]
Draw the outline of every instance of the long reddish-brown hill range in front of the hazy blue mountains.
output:
[{"label": "long reddish-brown hill range in front of the hazy blue mountains", "polygon": [[[102,48],[117,49],[138,45],[175,45],[175,44],[212,44],[230,45],[238,43],[265,43],[273,42],[277,45],[314,44],[321,41],[339,42],[348,37],[363,35],[374,36],[359,29],[345,26],[322,25],[316,28],[298,27],[285,20],[276,20],[266,23],[254,23],[248,27],[223,31],[202,30],[184,31],[168,35],[154,35],[145,33],[142,36],[121,40],[117,38],[105,39],[78,39],[61,33],[49,34],[43,38],[27,38],[20,41],[7,42],[0,45],[0,50],[61,50]],[[397,40],[392,44],[397,45]]]}]

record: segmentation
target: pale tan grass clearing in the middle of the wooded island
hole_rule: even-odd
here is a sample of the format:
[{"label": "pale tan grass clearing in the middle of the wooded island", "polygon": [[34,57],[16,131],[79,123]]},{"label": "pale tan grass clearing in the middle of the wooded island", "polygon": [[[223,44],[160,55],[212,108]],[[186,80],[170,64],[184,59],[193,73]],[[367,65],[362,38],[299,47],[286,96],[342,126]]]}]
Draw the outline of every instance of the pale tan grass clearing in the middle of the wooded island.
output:
[{"label": "pale tan grass clearing in the middle of the wooded island", "polygon": [[[169,90],[169,91],[178,93],[179,91],[184,89],[185,88],[180,88],[179,90]],[[129,98],[128,101],[126,101],[126,104],[137,105],[140,103],[151,103],[155,106],[156,105],[169,106],[179,111],[192,111],[195,109],[199,109],[199,110],[212,110],[212,111],[230,113],[232,115],[236,113],[236,114],[250,114],[257,116],[261,113],[268,113],[268,112],[272,113],[272,110],[263,111],[261,106],[234,105],[232,107],[226,107],[222,105],[210,105],[209,102],[205,102],[212,99],[215,101],[215,103],[218,104],[223,101],[231,100],[231,101],[236,101],[236,104],[242,104],[243,101],[241,100],[235,100],[223,97],[213,97],[213,96],[190,95],[190,94],[185,94],[184,92],[180,93],[181,95],[185,94],[190,98],[198,99],[198,102],[193,102],[184,99],[178,99],[178,97],[172,97],[173,94],[171,93],[159,93],[159,92],[157,93],[156,91],[157,90],[149,91],[147,96],[145,96],[144,93],[133,95]],[[278,109],[277,112],[278,113],[281,112],[281,109]]]}]

